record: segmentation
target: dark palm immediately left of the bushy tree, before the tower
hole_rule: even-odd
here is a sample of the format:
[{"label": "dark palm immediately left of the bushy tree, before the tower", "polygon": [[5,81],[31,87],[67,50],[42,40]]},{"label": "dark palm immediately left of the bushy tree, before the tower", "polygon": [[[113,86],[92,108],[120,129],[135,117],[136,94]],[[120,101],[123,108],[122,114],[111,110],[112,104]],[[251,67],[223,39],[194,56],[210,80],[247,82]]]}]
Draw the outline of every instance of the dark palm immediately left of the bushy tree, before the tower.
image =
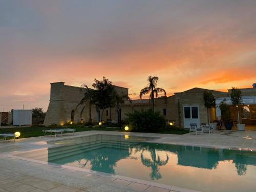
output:
[{"label": "dark palm immediately left of the bushy tree, before the tower", "polygon": [[89,103],[89,122],[92,122],[92,104],[94,104],[94,92],[95,90],[89,88],[86,84],[82,84],[82,88],[86,89],[86,92],[84,93],[84,97],[81,99],[81,101],[78,103],[76,108],[79,105],[83,105],[83,108],[80,113],[80,119],[82,118],[82,112],[84,108],[86,107],[86,103]]}]

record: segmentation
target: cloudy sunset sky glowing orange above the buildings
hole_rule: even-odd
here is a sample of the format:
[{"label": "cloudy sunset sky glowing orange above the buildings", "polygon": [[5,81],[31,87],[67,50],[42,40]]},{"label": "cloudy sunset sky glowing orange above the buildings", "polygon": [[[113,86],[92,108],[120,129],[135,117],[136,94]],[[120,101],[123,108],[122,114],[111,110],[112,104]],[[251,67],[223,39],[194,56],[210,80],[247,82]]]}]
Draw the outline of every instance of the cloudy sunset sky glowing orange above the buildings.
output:
[{"label": "cloudy sunset sky glowing orange above the buildings", "polygon": [[130,93],[148,75],[168,95],[251,87],[255,19],[255,0],[0,0],[0,112],[102,76]]}]

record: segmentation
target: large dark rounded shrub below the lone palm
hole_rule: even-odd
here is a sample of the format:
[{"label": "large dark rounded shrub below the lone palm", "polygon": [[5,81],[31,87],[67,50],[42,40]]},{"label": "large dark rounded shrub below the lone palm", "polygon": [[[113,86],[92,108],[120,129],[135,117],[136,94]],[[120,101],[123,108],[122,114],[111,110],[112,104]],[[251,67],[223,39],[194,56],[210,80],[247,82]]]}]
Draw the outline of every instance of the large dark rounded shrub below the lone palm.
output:
[{"label": "large dark rounded shrub below the lone palm", "polygon": [[156,132],[166,126],[164,117],[152,110],[135,111],[134,114],[126,115],[131,131],[134,132]]}]

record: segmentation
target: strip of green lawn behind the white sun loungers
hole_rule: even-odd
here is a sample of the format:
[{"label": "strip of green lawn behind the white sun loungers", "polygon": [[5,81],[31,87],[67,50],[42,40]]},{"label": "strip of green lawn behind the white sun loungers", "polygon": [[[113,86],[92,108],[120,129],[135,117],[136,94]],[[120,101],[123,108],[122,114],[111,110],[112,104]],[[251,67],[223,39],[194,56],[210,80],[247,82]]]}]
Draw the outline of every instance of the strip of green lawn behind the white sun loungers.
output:
[{"label": "strip of green lawn behind the white sun loungers", "polygon": [[[76,127],[63,127],[64,128],[71,128],[75,129],[75,132],[84,132],[84,131],[116,131],[118,127],[86,127],[86,126],[76,126]],[[44,136],[44,132],[42,130],[50,130],[50,129],[61,129],[59,128],[51,128],[51,127],[41,127],[41,126],[33,126],[33,127],[14,127],[14,128],[2,128],[0,129],[0,134],[3,133],[15,133],[20,132],[19,138],[27,138],[27,137],[39,137]]]}]

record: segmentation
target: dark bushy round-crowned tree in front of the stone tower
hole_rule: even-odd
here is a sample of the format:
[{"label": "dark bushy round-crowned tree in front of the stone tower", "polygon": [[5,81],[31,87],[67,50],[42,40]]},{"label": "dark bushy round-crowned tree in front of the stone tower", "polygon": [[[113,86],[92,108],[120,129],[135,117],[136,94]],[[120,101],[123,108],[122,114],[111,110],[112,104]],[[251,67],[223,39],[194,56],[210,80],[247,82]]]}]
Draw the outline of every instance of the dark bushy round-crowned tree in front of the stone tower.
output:
[{"label": "dark bushy round-crowned tree in front of the stone tower", "polygon": [[102,109],[101,120],[103,112],[106,108],[115,106],[115,88],[109,79],[103,77],[102,80],[94,79],[93,88],[95,89],[95,105],[96,108]]}]

